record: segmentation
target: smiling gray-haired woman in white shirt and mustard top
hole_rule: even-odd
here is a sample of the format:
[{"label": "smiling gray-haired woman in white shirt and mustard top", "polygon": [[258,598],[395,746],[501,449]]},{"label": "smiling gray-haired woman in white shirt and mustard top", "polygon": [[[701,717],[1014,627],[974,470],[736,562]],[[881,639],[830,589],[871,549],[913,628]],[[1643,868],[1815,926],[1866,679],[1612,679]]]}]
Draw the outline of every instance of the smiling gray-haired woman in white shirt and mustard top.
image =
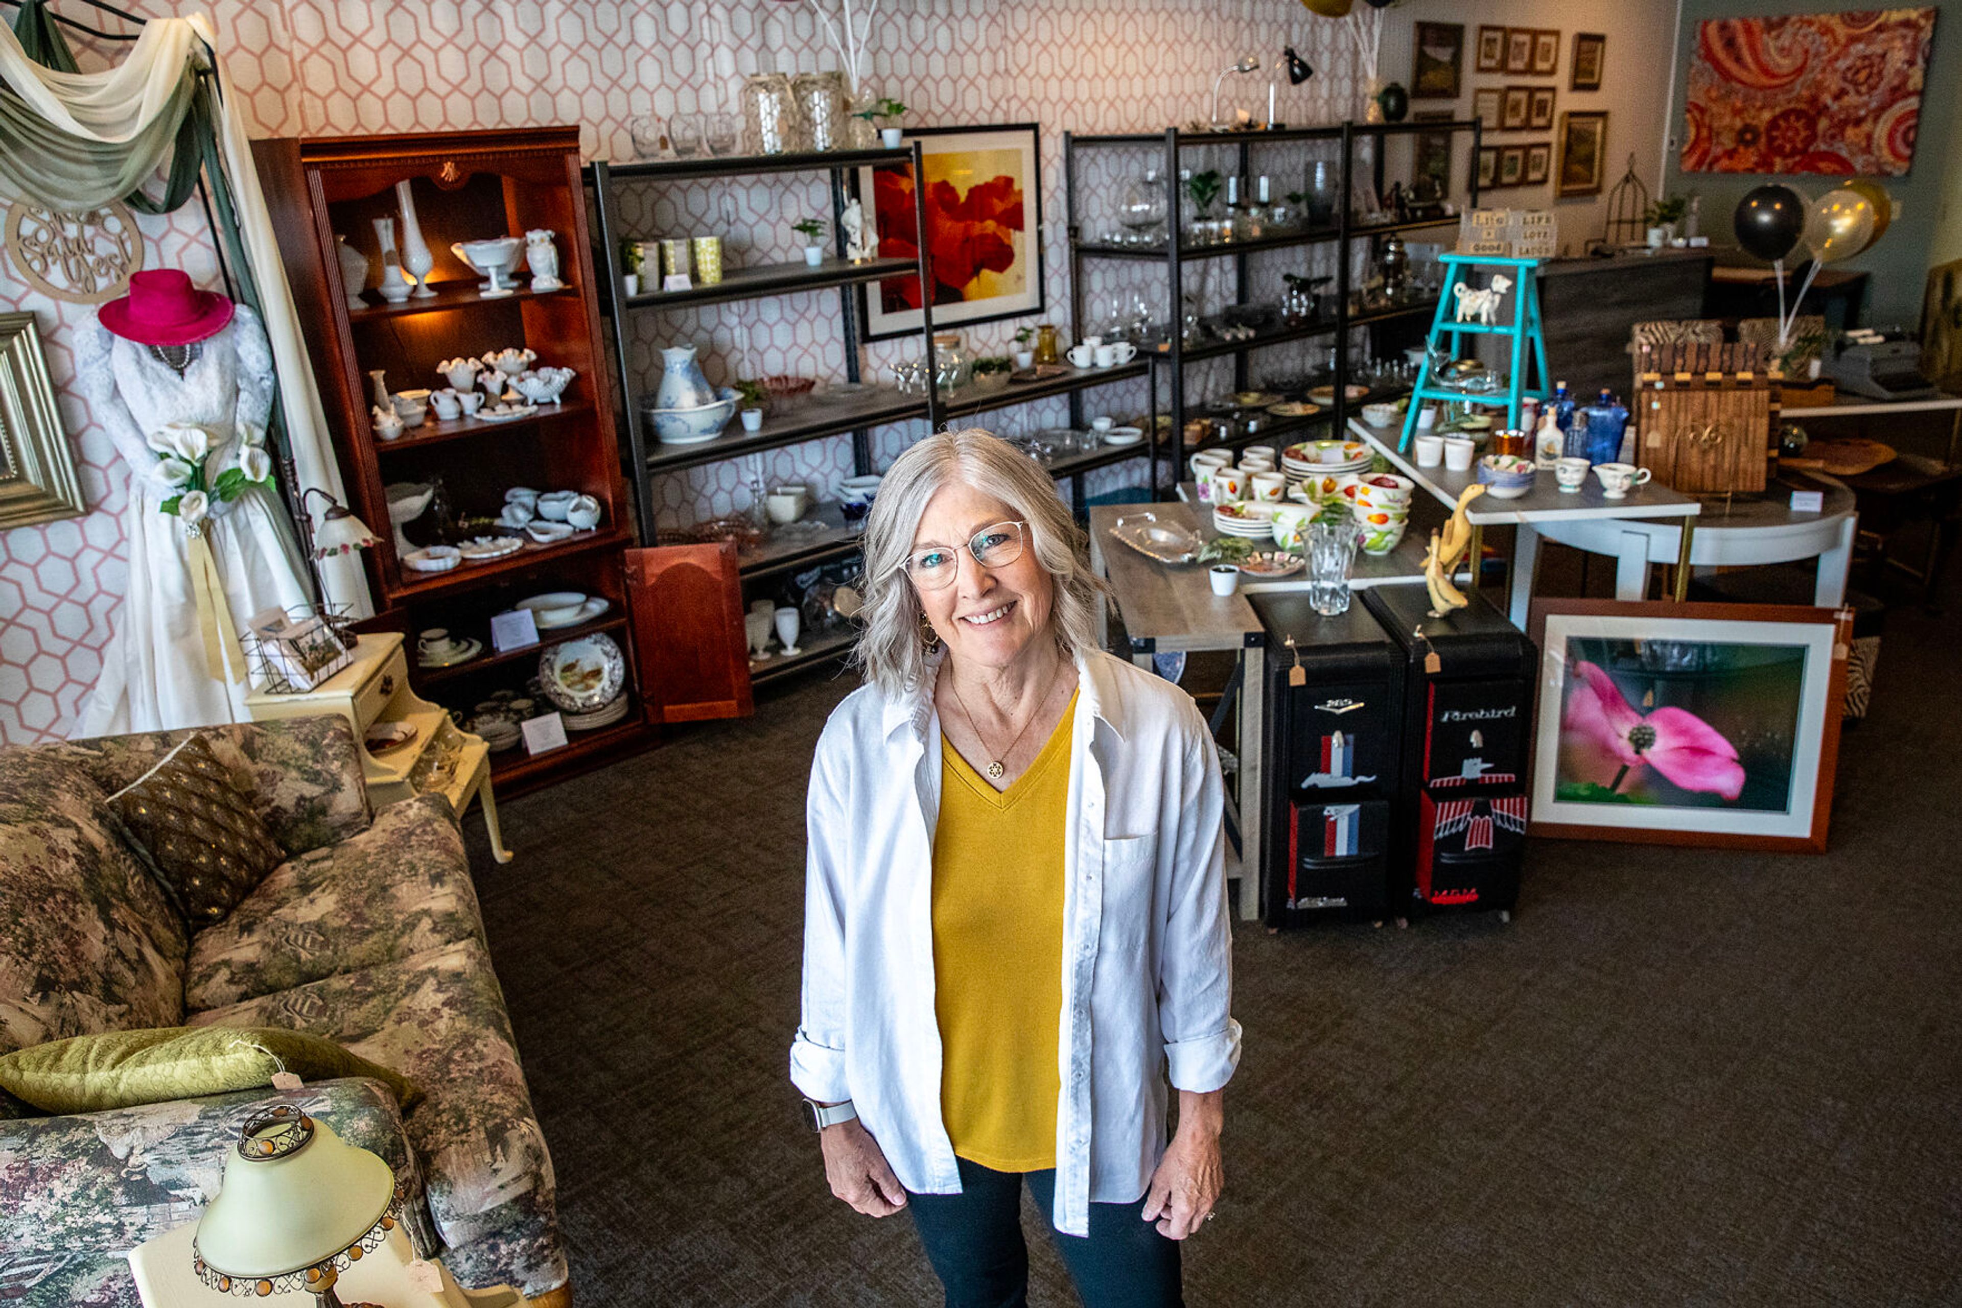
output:
[{"label": "smiling gray-haired woman in white shirt and mustard top", "polygon": [[791,1045],[832,1192],[910,1208],[948,1304],[1026,1302],[1024,1181],[1085,1304],[1179,1304],[1240,1059],[1207,722],[1097,647],[1103,582],[1007,441],[908,449],[863,547]]}]

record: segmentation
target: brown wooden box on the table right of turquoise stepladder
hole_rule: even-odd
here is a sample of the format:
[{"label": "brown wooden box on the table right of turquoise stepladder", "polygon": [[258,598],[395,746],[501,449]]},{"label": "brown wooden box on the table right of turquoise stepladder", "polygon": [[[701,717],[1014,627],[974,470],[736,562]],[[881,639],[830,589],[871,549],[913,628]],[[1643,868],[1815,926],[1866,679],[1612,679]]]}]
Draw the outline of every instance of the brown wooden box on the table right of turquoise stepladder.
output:
[{"label": "brown wooden box on the table right of turquoise stepladder", "polygon": [[1640,463],[1681,494],[1764,490],[1778,457],[1781,377],[1756,345],[1642,345]]}]

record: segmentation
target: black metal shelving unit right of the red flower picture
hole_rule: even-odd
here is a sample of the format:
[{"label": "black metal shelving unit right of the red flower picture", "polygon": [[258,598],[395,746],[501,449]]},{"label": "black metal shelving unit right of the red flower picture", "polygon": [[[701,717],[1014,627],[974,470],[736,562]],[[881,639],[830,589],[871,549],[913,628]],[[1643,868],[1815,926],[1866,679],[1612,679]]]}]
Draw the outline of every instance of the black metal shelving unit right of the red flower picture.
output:
[{"label": "black metal shelving unit right of the red flower picture", "polygon": [[[1350,312],[1350,243],[1358,239],[1379,239],[1391,233],[1420,231],[1426,227],[1446,227],[1458,226],[1458,216],[1438,218],[1438,220],[1415,220],[1415,222],[1387,222],[1387,224],[1358,224],[1350,214],[1350,196],[1354,192],[1356,176],[1356,143],[1373,141],[1375,149],[1369,151],[1369,167],[1373,173],[1375,190],[1381,194],[1385,182],[1385,141],[1393,135],[1417,135],[1428,131],[1448,131],[1454,137],[1458,133],[1472,135],[1472,155],[1466,169],[1466,184],[1470,192],[1470,204],[1477,204],[1477,147],[1483,139],[1481,126],[1475,120],[1462,122],[1405,122],[1405,124],[1336,124],[1328,127],[1281,127],[1273,131],[1236,131],[1236,133],[1216,133],[1216,131],[1181,131],[1177,127],[1167,127],[1163,133],[1114,133],[1114,135],[1075,135],[1063,133],[1063,190],[1065,190],[1065,222],[1069,227],[1069,296],[1071,296],[1071,324],[1081,327],[1083,322],[1083,294],[1085,294],[1085,261],[1089,259],[1118,259],[1134,263],[1158,261],[1165,265],[1169,296],[1167,296],[1167,339],[1152,355],[1154,380],[1152,380],[1152,410],[1154,428],[1158,416],[1158,371],[1163,369],[1169,380],[1169,406],[1171,406],[1171,439],[1165,449],[1165,463],[1171,467],[1171,478],[1177,482],[1181,469],[1185,467],[1185,365],[1197,363],[1201,359],[1234,359],[1234,388],[1248,388],[1248,359],[1252,351],[1269,345],[1281,345],[1287,341],[1305,341],[1313,337],[1332,337],[1336,367],[1334,367],[1334,404],[1322,414],[1305,420],[1287,420],[1271,428],[1264,428],[1260,433],[1248,435],[1244,441],[1271,439],[1275,435],[1291,435],[1309,431],[1318,426],[1328,426],[1334,431],[1348,429],[1348,410],[1350,402],[1346,398],[1346,388],[1350,384],[1350,329],[1360,326],[1389,324],[1403,318],[1428,318],[1436,308],[1436,300],[1426,304],[1395,306],[1387,310],[1369,310],[1352,314]],[[1262,235],[1244,241],[1228,241],[1218,245],[1187,245],[1181,239],[1185,229],[1183,206],[1185,196],[1179,186],[1179,161],[1185,151],[1195,149],[1216,149],[1216,147],[1236,147],[1238,149],[1238,173],[1248,176],[1254,169],[1254,151],[1262,145],[1285,145],[1285,143],[1307,143],[1307,141],[1332,141],[1340,147],[1340,192],[1336,200],[1336,222],[1332,226],[1303,227],[1299,231],[1283,231],[1275,235]],[[1162,245],[1112,245],[1109,241],[1085,241],[1079,220],[1079,196],[1077,196],[1077,151],[1112,145],[1160,145],[1163,147],[1163,176],[1165,176],[1165,241]],[[1311,245],[1334,243],[1342,251],[1336,259],[1336,294],[1334,294],[1334,314],[1324,316],[1313,324],[1299,324],[1279,329],[1269,329],[1258,333],[1248,341],[1205,341],[1197,345],[1185,345],[1181,322],[1183,322],[1183,302],[1185,302],[1185,275],[1187,263],[1199,263],[1207,259],[1232,259],[1234,263],[1234,302],[1246,304],[1248,288],[1248,259],[1264,251],[1283,251],[1283,249],[1303,249]],[[1154,488],[1169,492],[1169,488],[1158,484],[1158,455],[1156,455],[1156,431],[1154,439],[1154,459],[1152,459],[1152,484]]]}]

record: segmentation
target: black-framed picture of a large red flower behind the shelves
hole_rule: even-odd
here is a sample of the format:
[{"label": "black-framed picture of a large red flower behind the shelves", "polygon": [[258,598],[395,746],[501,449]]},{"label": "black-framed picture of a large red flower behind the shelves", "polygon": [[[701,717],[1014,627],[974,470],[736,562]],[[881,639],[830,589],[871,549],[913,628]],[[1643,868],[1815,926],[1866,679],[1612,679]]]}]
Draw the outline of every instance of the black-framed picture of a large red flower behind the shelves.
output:
[{"label": "black-framed picture of a large red flower behind the shelves", "polygon": [[[1005,127],[908,127],[926,171],[926,247],[934,265],[934,326],[1040,314],[1042,143],[1036,124]],[[912,214],[912,163],[857,171],[869,196],[879,253],[912,259],[920,249]],[[861,292],[865,339],[920,329],[920,282],[891,277]]]}]

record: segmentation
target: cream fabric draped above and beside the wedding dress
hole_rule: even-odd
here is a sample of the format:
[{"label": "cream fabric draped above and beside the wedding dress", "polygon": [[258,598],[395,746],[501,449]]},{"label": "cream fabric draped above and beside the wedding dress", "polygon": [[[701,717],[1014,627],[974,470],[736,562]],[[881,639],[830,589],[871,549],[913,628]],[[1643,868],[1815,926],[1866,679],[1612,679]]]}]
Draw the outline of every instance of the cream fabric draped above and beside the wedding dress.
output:
[{"label": "cream fabric draped above and beside the wedding dress", "polygon": [[[104,73],[57,73],[27,59],[12,29],[0,25],[0,80],[6,82],[0,90],[0,173],[37,202],[63,210],[88,210],[129,194],[135,190],[133,180],[155,173],[177,137],[190,104],[190,71],[210,65],[218,80],[218,153],[237,206],[245,263],[263,302],[261,316],[273,345],[294,471],[302,488],[318,486],[345,504],[347,492],[300,339],[273,218],[259,190],[251,141],[232,108],[230,80],[216,51],[218,35],[204,14],[153,18],[143,24],[141,37],[118,67]],[[29,126],[27,120],[35,116],[39,126]],[[22,151],[31,151],[33,157],[22,159]],[[88,182],[84,163],[90,159],[104,167],[88,190],[96,198],[73,202],[75,190],[65,192],[65,200],[35,192],[35,176],[82,188]],[[318,571],[328,602],[347,606],[357,618],[375,612],[357,555],[334,555],[320,561]]]}]

